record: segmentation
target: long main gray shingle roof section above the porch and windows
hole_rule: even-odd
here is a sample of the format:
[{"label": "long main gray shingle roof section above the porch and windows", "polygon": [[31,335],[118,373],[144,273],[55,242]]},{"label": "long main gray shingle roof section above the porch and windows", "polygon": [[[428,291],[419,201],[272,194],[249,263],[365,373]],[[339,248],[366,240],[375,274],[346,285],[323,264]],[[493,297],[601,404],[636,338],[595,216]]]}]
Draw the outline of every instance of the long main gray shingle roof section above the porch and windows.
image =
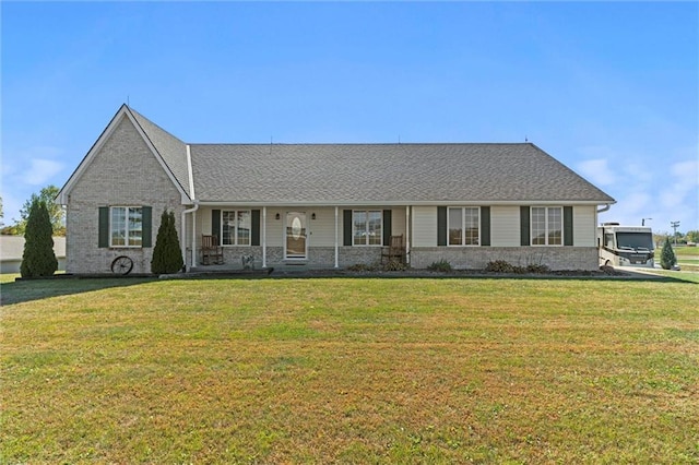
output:
[{"label": "long main gray shingle roof section above the porch and windows", "polygon": [[532,143],[192,144],[202,202],[614,202]]}]

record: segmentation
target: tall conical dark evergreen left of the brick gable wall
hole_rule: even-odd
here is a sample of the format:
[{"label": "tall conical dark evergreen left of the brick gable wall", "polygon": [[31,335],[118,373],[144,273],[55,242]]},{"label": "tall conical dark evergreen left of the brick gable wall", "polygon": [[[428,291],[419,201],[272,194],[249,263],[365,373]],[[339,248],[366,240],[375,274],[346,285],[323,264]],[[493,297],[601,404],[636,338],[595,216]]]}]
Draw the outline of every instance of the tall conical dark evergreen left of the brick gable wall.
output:
[{"label": "tall conical dark evergreen left of the brick gable wall", "polygon": [[54,253],[51,219],[44,202],[35,199],[26,222],[20,273],[22,277],[39,277],[51,276],[56,270],[58,260]]}]

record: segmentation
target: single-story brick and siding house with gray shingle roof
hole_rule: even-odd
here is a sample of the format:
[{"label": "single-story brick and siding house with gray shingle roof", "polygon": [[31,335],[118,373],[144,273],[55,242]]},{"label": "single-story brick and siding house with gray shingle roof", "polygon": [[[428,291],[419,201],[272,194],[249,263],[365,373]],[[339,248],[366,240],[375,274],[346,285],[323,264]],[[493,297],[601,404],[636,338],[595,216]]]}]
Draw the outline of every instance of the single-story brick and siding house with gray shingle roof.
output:
[{"label": "single-story brick and siding house with gray shingle roof", "polygon": [[[187,270],[204,236],[241,267],[405,260],[483,269],[495,260],[596,270],[597,213],[615,200],[532,143],[186,143],[122,105],[58,201],[67,272],[150,272],[163,211]],[[602,207],[602,210],[599,210]]]}]

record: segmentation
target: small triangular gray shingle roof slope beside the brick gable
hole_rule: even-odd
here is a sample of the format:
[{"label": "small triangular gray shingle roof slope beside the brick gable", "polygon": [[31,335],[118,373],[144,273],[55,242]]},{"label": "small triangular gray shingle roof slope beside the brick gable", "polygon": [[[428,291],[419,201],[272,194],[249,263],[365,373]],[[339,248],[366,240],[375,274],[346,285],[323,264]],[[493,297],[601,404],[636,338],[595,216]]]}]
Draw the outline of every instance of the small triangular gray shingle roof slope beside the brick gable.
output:
[{"label": "small triangular gray shingle roof slope beside the brick gable", "polygon": [[149,138],[157,153],[170,169],[182,190],[191,198],[189,191],[189,170],[187,167],[187,144],[155,124],[133,108],[127,107]]}]

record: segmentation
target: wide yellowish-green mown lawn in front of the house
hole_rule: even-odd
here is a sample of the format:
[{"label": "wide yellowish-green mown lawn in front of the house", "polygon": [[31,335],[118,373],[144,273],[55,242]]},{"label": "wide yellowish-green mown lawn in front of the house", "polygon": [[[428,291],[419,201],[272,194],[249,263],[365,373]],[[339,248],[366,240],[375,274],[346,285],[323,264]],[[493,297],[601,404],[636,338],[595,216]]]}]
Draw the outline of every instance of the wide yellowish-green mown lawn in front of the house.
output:
[{"label": "wide yellowish-green mown lawn in front of the house", "polygon": [[697,463],[698,289],[5,282],[0,463]]}]

